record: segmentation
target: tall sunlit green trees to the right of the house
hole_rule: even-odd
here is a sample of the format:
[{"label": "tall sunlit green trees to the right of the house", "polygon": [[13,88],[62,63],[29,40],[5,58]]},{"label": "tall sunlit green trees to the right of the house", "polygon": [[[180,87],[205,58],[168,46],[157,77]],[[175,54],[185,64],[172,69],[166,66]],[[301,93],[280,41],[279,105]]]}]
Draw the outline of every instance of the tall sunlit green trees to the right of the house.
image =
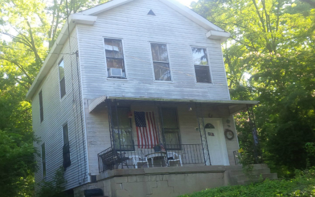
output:
[{"label": "tall sunlit green trees to the right of the house", "polygon": [[[311,6],[310,6],[311,5]],[[223,44],[231,98],[254,108],[263,159],[280,176],[315,165],[314,0],[198,0],[194,11],[231,33]],[[235,116],[240,147],[253,160],[247,114]]]}]

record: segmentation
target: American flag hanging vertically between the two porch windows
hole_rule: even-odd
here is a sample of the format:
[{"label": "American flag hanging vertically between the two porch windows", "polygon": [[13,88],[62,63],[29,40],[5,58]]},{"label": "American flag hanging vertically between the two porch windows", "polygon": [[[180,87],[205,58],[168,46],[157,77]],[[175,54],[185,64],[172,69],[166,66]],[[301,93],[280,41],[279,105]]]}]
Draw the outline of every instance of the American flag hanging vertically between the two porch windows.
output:
[{"label": "American flag hanging vertically between the two porch windows", "polygon": [[134,112],[138,148],[153,148],[158,145],[158,131],[153,112]]}]

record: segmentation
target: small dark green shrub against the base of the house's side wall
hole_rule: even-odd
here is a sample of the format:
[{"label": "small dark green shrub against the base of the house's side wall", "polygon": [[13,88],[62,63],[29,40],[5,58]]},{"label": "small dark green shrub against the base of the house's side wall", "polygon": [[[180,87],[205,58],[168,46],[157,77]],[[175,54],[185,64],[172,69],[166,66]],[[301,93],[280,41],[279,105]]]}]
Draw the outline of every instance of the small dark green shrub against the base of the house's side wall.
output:
[{"label": "small dark green shrub against the base of the house's side wall", "polygon": [[36,194],[36,197],[67,197],[64,191],[64,184],[66,180],[63,177],[63,166],[56,171],[53,181],[42,181],[39,183],[40,191]]}]

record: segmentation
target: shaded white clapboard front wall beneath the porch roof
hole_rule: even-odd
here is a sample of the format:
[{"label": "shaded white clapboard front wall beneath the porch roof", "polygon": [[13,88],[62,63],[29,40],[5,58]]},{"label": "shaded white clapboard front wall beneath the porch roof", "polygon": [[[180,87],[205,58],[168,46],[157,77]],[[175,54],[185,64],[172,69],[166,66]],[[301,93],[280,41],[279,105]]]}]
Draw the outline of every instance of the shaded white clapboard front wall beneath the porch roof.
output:
[{"label": "shaded white clapboard front wall beneath the porch roof", "polygon": [[[197,116],[195,107],[192,106],[192,111],[189,111],[188,104],[162,104],[164,108],[175,108],[177,110],[178,125],[180,129],[181,144],[201,144],[200,133],[198,128]],[[114,110],[114,109],[113,109]],[[134,111],[154,111],[156,112],[156,106],[152,102],[134,103],[130,105],[130,111],[134,114]],[[110,131],[108,123],[108,111],[107,108],[102,105],[95,109],[95,111],[89,113],[88,109],[85,109],[87,117],[87,134],[88,134],[88,149],[89,149],[89,172],[92,175],[98,174],[97,154],[104,151],[111,146]],[[204,107],[203,116],[212,118],[221,118],[223,124],[223,131],[225,129],[235,130],[233,123],[233,116],[228,115],[227,107]],[[158,123],[158,117],[156,123]],[[226,120],[230,123],[227,124]],[[137,132],[134,117],[131,118],[131,128],[133,134],[134,144],[138,144]],[[223,132],[222,131],[222,132]],[[236,133],[234,133],[236,136]],[[230,165],[235,165],[233,151],[238,150],[237,137],[232,140],[225,139],[227,154]],[[203,159],[203,158],[202,158]]]}]

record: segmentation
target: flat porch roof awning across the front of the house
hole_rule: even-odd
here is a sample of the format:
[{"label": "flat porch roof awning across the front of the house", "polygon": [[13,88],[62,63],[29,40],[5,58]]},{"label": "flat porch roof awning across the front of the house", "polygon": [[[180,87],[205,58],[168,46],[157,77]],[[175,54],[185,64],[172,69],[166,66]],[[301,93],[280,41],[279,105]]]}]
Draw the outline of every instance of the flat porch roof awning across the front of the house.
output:
[{"label": "flat porch roof awning across the front of the house", "polygon": [[165,99],[165,98],[144,98],[144,97],[116,97],[102,96],[95,99],[88,99],[89,112],[92,112],[97,105],[104,102],[106,99],[130,100],[130,101],[160,101],[160,102],[176,102],[176,103],[204,103],[207,106],[227,106],[230,114],[235,114],[246,109],[248,106],[253,106],[259,103],[256,100],[204,100],[204,99]]}]

